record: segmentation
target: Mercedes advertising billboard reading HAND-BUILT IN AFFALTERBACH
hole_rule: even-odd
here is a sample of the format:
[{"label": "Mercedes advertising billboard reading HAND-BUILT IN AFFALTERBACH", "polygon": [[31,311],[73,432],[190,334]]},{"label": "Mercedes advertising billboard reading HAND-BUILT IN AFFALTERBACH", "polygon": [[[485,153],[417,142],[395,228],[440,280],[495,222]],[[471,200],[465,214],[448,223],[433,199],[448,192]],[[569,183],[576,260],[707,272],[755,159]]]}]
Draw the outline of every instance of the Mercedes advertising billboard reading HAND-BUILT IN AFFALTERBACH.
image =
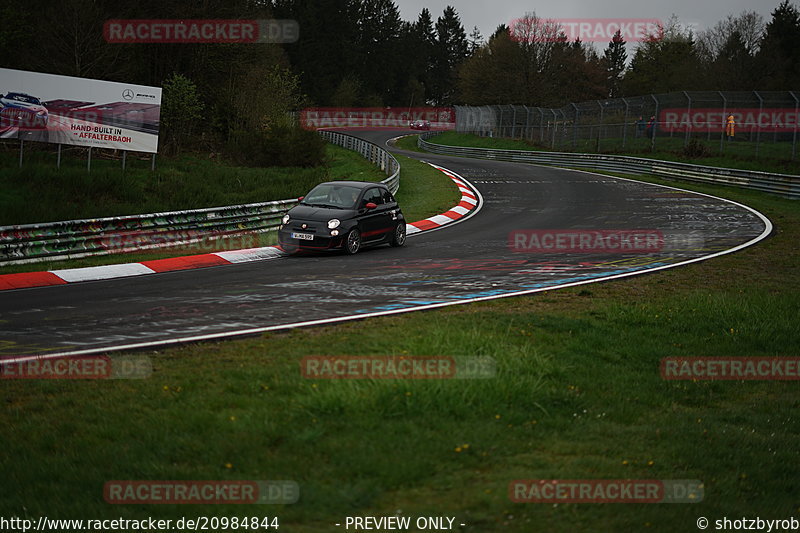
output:
[{"label": "Mercedes advertising billboard reading HAND-BUILT IN AFFALTERBACH", "polygon": [[161,88],[0,68],[0,138],[158,151]]}]

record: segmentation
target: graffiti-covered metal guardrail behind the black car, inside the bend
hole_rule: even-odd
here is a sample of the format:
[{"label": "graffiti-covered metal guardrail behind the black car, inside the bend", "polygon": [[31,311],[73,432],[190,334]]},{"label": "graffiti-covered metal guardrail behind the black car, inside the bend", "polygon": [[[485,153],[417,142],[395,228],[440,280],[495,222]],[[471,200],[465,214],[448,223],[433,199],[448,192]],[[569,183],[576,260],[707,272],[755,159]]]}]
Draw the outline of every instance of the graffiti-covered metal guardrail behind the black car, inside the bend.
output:
[{"label": "graffiti-covered metal guardrail behind the black car, inside the bend", "polygon": [[[400,186],[400,165],[389,152],[345,133],[320,131],[327,141],[360,153],[388,176],[392,193]],[[274,231],[297,200],[68,220],[0,227],[0,264],[32,263],[187,245],[205,239]]]}]

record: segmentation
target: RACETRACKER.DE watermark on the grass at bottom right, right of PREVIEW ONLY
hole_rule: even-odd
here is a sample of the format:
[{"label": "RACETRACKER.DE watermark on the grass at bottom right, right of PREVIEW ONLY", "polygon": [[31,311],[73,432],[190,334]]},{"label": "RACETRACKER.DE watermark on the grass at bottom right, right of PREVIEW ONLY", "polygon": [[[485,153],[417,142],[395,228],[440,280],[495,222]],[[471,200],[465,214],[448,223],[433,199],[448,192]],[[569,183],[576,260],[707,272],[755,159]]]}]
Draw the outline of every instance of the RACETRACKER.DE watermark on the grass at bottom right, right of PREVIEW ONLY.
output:
[{"label": "RACETRACKER.DE watermark on the grass at bottom right, right of PREVIEW ONLY", "polygon": [[508,485],[515,503],[699,503],[696,479],[516,479]]}]

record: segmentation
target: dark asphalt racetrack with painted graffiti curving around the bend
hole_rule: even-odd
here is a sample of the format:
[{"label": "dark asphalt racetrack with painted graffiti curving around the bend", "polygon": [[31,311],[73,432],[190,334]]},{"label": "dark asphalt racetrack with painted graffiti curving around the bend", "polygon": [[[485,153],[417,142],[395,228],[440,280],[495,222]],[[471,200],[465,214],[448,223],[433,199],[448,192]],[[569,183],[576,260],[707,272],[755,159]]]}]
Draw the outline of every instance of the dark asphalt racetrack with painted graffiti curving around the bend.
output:
[{"label": "dark asphalt racetrack with painted graffiti curving around the bend", "polygon": [[[348,133],[384,145],[403,132]],[[702,260],[772,229],[749,208],[697,193],[522,163],[401,153],[461,175],[482,196],[480,210],[410,236],[403,248],[3,291],[0,357],[153,347],[513,296]],[[547,229],[648,230],[664,239],[647,253],[532,253],[509,244],[512,232]]]}]

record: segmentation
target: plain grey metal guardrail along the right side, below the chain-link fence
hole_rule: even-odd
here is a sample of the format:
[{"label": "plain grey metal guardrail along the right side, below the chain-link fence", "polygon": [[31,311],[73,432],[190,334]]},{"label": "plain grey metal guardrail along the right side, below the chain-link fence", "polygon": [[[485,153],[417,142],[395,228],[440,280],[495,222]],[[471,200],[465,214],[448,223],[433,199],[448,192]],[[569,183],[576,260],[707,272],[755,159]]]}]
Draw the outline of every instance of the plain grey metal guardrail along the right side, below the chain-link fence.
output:
[{"label": "plain grey metal guardrail along the right side, below the chain-link fence", "polygon": [[434,154],[495,159],[498,161],[515,161],[520,163],[536,163],[556,167],[590,168],[609,172],[620,172],[623,174],[645,174],[667,179],[695,181],[716,185],[733,185],[735,187],[778,194],[787,198],[800,199],[800,176],[792,176],[789,174],[770,174],[768,172],[759,172],[755,170],[704,167],[700,165],[690,165],[688,163],[659,161],[621,155],[469,148],[462,146],[445,146],[428,141],[428,139],[434,135],[439,134],[440,132],[430,132],[420,135],[417,142],[418,146]]}]

